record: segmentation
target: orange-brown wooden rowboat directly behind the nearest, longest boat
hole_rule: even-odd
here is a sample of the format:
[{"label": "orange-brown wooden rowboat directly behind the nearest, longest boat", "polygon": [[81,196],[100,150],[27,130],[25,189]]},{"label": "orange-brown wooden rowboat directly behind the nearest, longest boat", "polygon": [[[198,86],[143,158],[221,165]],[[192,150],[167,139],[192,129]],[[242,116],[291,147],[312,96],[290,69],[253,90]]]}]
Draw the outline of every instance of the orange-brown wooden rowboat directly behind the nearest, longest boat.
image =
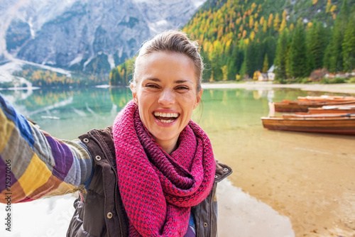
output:
[{"label": "orange-brown wooden rowboat directly behind the nearest, longest boat", "polygon": [[326,105],[343,105],[355,104],[355,100],[349,101],[298,101],[283,100],[282,102],[274,102],[275,111],[277,112],[307,112],[308,108],[320,108]]}]

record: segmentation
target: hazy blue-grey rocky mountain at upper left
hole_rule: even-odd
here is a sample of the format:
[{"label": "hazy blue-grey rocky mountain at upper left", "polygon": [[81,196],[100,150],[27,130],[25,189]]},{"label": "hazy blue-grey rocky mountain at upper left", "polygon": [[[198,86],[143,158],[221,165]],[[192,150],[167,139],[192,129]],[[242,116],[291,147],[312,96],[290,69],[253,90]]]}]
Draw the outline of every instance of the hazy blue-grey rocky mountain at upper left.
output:
[{"label": "hazy blue-grey rocky mountain at upper left", "polygon": [[205,0],[0,0],[0,60],[107,74]]}]

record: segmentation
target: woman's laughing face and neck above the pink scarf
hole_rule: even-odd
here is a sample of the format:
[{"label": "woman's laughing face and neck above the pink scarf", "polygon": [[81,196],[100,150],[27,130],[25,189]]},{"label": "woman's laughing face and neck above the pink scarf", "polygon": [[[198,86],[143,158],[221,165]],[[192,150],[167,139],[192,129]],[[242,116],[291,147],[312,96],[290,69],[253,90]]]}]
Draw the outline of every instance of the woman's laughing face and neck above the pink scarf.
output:
[{"label": "woman's laughing face and neck above the pink scarf", "polygon": [[136,78],[136,88],[131,89],[141,121],[171,153],[201,100],[194,64],[182,53],[150,53],[138,63]]}]

